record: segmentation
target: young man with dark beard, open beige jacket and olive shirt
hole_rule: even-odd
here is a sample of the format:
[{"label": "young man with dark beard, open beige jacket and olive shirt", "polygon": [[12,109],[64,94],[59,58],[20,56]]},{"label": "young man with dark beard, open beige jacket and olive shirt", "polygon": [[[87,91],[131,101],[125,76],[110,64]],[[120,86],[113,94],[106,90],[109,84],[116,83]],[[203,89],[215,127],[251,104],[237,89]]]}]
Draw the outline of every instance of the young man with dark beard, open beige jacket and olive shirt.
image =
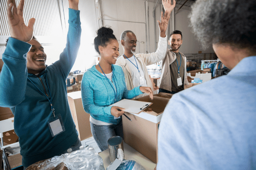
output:
[{"label": "young man with dark beard, open beige jacket and olive shirt", "polygon": [[178,30],[170,34],[168,40],[170,49],[167,50],[162,65],[162,74],[159,83],[159,92],[175,94],[184,90],[184,85],[188,84],[187,59],[179,52],[182,44],[182,33]]}]

